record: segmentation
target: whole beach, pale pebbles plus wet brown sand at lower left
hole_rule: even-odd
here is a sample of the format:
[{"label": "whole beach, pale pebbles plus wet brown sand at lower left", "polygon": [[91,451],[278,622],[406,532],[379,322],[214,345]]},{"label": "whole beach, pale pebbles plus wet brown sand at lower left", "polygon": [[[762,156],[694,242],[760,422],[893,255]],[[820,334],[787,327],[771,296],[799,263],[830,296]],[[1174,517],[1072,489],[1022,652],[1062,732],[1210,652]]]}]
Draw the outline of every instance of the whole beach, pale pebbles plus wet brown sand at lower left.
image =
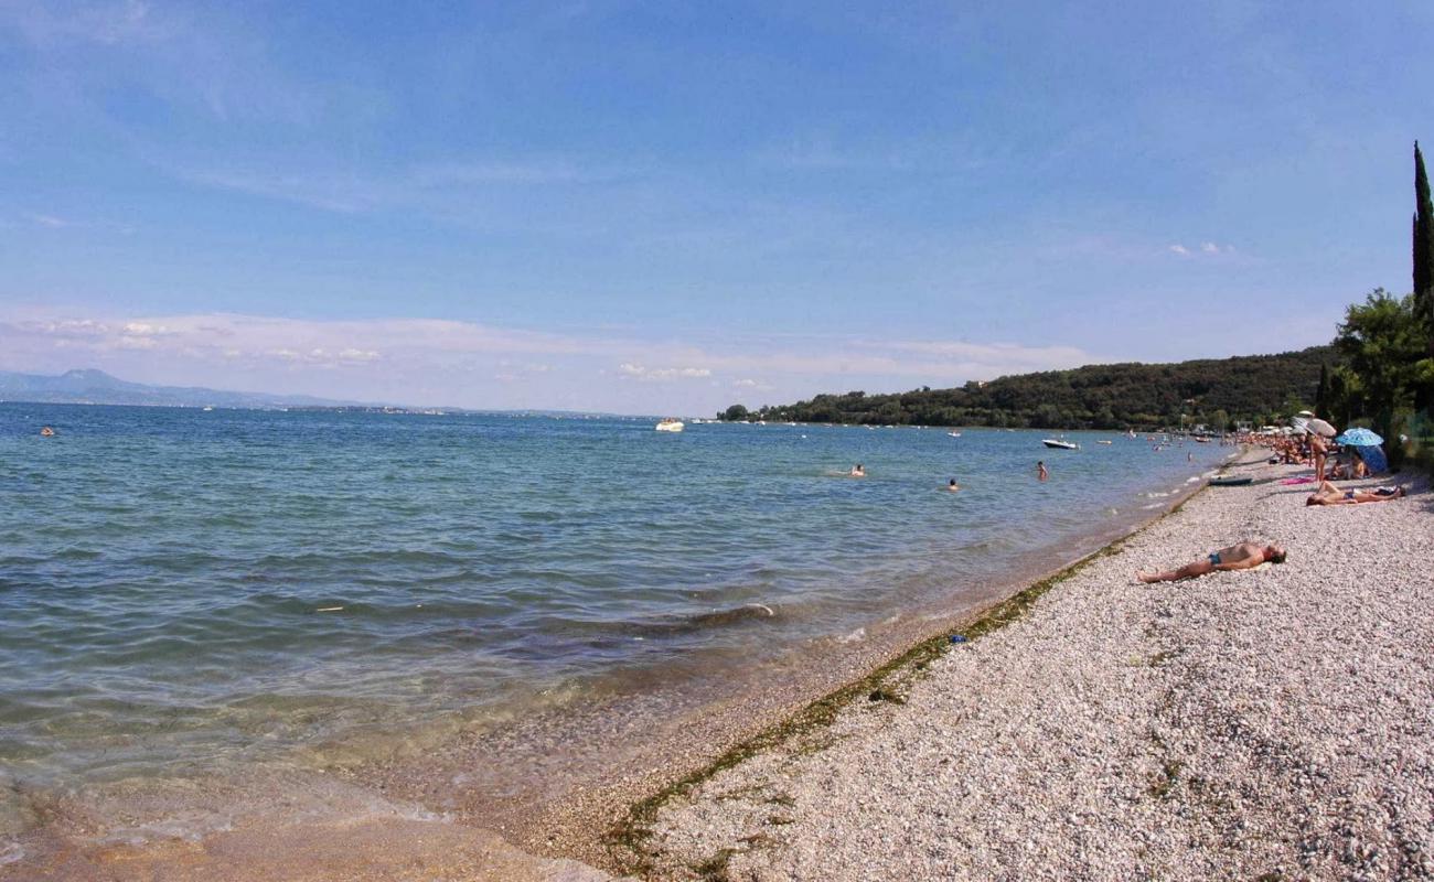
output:
[{"label": "whole beach, pale pebbles plus wet brown sand at lower left", "polygon": [[[437,777],[294,772],[248,783],[277,810],[201,835],[96,839],[102,807],[42,806],[0,879],[1434,878],[1427,478],[1306,508],[1312,485],[1279,480],[1308,468],[1250,452],[1226,472],[1253,483],[1195,493],[956,640],[872,660],[714,762],[698,729],[652,746],[650,773],[624,766],[630,786],[556,820],[495,832],[435,807]],[[1136,579],[1243,539],[1289,559]]]}]

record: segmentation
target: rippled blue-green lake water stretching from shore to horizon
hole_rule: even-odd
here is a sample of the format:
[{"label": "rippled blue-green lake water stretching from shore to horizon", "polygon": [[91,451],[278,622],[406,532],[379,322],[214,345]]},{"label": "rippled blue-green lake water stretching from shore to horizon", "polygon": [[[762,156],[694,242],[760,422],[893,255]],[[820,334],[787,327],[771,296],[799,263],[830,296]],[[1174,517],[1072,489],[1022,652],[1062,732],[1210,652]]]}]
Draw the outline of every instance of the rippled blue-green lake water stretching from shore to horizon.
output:
[{"label": "rippled blue-green lake water stretching from shore to horizon", "polygon": [[0,779],[212,772],[859,638],[1230,452],[1041,437],[0,404]]}]

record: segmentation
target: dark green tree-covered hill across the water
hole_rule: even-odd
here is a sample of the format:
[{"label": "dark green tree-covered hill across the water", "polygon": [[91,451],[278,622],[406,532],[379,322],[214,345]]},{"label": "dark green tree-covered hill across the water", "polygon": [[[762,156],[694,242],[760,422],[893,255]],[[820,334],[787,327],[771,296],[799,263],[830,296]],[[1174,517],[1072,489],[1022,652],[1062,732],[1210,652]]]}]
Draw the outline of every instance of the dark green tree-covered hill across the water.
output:
[{"label": "dark green tree-covered hill across the water", "polygon": [[723,419],[1038,429],[1154,429],[1205,423],[1275,422],[1314,404],[1321,366],[1338,361],[1334,347],[1276,356],[1202,359],[1177,364],[1090,364],[893,394],[819,394],[810,402]]}]

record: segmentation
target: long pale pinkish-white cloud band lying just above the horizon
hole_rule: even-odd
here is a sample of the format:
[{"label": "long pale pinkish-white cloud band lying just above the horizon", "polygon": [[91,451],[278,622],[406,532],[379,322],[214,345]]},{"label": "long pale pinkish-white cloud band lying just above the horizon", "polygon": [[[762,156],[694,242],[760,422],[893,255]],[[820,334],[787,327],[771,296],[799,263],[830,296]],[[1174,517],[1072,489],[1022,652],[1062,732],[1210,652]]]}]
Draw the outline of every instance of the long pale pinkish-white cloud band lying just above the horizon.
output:
[{"label": "long pale pinkish-white cloud band lying just above the horizon", "polygon": [[1063,346],[830,337],[697,346],[435,318],[0,316],[3,369],[93,366],[146,381],[473,406],[681,413],[693,410],[685,402],[707,409],[731,403],[728,394],[955,384],[1093,360]]}]

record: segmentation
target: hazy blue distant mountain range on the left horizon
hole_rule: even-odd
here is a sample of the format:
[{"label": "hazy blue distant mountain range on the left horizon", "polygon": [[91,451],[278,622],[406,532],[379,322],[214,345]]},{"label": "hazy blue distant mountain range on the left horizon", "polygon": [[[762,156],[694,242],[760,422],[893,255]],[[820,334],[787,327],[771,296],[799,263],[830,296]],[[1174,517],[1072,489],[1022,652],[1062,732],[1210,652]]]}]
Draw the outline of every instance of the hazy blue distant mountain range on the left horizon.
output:
[{"label": "hazy blue distant mountain range on the left horizon", "polygon": [[102,370],[67,370],[60,376],[0,371],[0,402],[43,402],[49,404],[146,404],[163,407],[344,407],[357,402],[334,402],[303,394],[221,392],[198,386],[146,386],[128,383]]}]

